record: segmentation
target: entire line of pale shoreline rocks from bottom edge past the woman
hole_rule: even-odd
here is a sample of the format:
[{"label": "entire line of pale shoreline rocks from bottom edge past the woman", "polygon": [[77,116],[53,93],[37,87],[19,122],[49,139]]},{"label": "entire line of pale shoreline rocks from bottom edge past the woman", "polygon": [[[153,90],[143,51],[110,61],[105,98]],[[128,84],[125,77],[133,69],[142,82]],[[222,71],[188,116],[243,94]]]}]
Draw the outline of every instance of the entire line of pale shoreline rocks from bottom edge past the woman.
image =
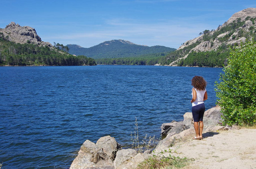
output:
[{"label": "entire line of pale shoreline rocks from bottom edge past the woman", "polygon": [[[221,115],[219,106],[206,110],[203,119],[203,137],[207,137],[209,132],[229,129],[219,125]],[[164,152],[180,141],[192,139],[194,136],[192,113],[185,113],[184,121],[172,121],[171,123],[162,124],[161,133],[165,138],[159,141],[154,151],[147,150],[144,153],[137,153],[134,149],[122,149],[115,138],[111,136],[101,137],[96,144],[86,140],[70,168],[136,168],[138,164],[154,154]]]}]

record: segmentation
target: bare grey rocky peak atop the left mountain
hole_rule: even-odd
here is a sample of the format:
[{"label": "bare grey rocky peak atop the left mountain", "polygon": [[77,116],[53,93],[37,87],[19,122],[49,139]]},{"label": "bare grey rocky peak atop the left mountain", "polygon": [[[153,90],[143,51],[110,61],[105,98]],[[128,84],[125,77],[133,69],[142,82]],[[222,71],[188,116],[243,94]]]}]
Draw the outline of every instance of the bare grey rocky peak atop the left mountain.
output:
[{"label": "bare grey rocky peak atop the left mountain", "polygon": [[20,26],[12,22],[8,24],[5,29],[0,29],[0,33],[3,33],[8,41],[15,43],[32,43],[35,45],[53,47],[51,43],[42,41],[37,35],[36,30],[30,26]]}]

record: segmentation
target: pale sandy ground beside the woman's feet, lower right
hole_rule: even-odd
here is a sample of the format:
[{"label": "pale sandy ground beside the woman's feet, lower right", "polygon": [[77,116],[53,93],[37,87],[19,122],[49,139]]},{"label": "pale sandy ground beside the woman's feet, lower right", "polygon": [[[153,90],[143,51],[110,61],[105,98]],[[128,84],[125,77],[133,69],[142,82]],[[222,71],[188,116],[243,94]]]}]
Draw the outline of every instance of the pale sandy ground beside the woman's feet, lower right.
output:
[{"label": "pale sandy ground beside the woman's feet, lower right", "polygon": [[206,132],[203,136],[203,140],[191,139],[171,148],[176,156],[195,159],[184,168],[256,168],[255,128]]}]

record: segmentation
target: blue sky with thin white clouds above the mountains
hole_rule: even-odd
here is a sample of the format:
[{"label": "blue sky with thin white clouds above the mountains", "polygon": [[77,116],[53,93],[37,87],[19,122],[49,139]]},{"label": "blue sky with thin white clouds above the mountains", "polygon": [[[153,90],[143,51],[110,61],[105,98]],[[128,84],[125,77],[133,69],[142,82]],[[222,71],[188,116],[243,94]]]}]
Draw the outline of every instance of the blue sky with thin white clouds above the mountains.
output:
[{"label": "blue sky with thin white clouds above the mountains", "polygon": [[0,28],[14,21],[42,41],[92,47],[112,39],[179,48],[255,0],[0,0]]}]

